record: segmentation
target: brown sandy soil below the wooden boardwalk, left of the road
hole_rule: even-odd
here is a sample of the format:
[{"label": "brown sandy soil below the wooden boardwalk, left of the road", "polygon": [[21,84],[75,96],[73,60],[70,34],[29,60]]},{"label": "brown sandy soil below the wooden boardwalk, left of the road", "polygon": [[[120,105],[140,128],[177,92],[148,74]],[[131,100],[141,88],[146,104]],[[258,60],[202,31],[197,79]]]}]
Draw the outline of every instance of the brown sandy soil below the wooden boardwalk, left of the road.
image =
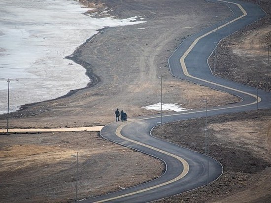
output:
[{"label": "brown sandy soil below the wooden boardwalk, left of the road", "polygon": [[76,152],[79,199],[152,180],[164,170],[160,160],[97,132],[1,135],[0,149],[0,202],[73,202]]}]

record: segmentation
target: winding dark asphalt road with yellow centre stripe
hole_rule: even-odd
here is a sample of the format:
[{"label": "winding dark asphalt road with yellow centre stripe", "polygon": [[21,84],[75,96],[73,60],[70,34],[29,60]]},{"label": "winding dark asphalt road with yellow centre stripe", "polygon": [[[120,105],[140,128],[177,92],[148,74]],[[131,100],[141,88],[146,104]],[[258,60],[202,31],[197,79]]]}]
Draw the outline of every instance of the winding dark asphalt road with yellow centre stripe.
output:
[{"label": "winding dark asphalt road with yellow centre stripe", "polygon": [[[169,58],[171,74],[177,78],[228,92],[242,102],[205,109],[163,115],[163,123],[271,107],[271,94],[262,90],[215,77],[207,59],[218,40],[262,18],[266,13],[257,5],[242,1],[210,0],[227,4],[233,15],[184,40]],[[258,92],[258,96],[257,96]],[[163,160],[165,173],[150,182],[114,193],[83,200],[83,203],[145,203],[202,187],[223,172],[219,162],[195,151],[165,142],[150,135],[160,123],[160,115],[140,117],[129,122],[114,122],[102,128],[105,139]],[[112,177],[114,178],[114,177]],[[121,178],[121,177],[115,177]]]}]

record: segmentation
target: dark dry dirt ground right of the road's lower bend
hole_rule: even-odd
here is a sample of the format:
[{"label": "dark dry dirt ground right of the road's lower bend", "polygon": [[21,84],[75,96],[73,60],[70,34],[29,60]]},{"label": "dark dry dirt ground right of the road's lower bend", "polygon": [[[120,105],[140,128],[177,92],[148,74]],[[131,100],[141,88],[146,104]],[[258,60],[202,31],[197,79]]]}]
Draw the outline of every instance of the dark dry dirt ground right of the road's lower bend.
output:
[{"label": "dark dry dirt ground right of the road's lower bend", "polygon": [[[208,117],[209,155],[223,165],[222,176],[209,186],[157,203],[270,203],[270,115],[271,110],[258,110]],[[165,124],[152,133],[204,153],[204,128],[202,118]]]}]

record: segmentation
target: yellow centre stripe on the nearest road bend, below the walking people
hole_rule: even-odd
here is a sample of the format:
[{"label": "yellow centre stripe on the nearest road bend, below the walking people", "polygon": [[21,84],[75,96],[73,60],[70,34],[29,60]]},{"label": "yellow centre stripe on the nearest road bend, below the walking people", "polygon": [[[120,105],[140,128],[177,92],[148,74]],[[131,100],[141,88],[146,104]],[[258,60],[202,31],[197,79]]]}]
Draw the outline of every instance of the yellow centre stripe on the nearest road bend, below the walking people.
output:
[{"label": "yellow centre stripe on the nearest road bend, below the walking people", "polygon": [[145,189],[142,189],[142,190],[138,190],[138,191],[135,191],[135,192],[132,192],[132,193],[128,193],[128,194],[125,194],[125,195],[120,195],[120,196],[117,196],[117,197],[113,197],[113,198],[108,198],[108,199],[105,199],[105,200],[102,200],[102,201],[98,201],[98,202],[95,202],[95,203],[102,203],[102,202],[107,202],[107,201],[111,201],[111,200],[115,200],[115,199],[119,199],[119,198],[123,198],[123,197],[127,197],[127,196],[131,196],[131,195],[135,195],[135,194],[138,194],[138,193],[142,193],[142,192],[145,192],[145,191],[149,191],[149,190],[152,190],[152,189],[155,189],[155,188],[159,188],[159,187],[162,187],[162,186],[165,186],[165,185],[168,185],[169,183],[172,183],[172,182],[175,182],[181,178],[183,178],[189,171],[189,165],[188,163],[181,157],[177,156],[177,155],[174,155],[174,154],[171,154],[169,152],[166,152],[164,150],[161,150],[161,149],[158,149],[158,148],[155,148],[155,147],[152,147],[152,146],[149,146],[147,144],[144,144],[144,143],[141,143],[141,142],[138,142],[138,141],[135,141],[133,139],[130,139],[130,138],[127,138],[127,137],[124,137],[123,135],[121,135],[121,130],[122,128],[127,125],[129,122],[127,123],[123,123],[121,124],[117,130],[116,130],[116,135],[122,139],[125,139],[127,141],[130,141],[130,142],[133,142],[135,144],[138,144],[138,145],[141,145],[141,146],[144,146],[144,147],[147,147],[147,148],[150,148],[152,150],[155,150],[155,151],[158,151],[158,152],[161,152],[163,154],[167,154],[171,157],[174,157],[175,159],[179,160],[182,164],[183,164],[183,171],[180,175],[178,175],[177,177],[175,177],[174,179],[171,179],[167,182],[164,182],[164,183],[161,183],[159,185],[155,185],[155,186],[152,186],[152,187],[149,187],[149,188],[145,188]]}]

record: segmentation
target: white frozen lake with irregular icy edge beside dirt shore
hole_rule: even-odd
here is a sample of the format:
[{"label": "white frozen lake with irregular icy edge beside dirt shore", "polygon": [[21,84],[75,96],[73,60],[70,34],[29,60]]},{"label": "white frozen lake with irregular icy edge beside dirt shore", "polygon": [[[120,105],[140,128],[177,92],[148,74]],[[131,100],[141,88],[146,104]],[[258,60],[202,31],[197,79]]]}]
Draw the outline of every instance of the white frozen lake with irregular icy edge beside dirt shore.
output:
[{"label": "white frozen lake with irregular icy edge beside dirt shore", "polygon": [[144,23],[96,19],[74,0],[0,0],[0,114],[85,87],[85,68],[65,59],[104,27]]}]

